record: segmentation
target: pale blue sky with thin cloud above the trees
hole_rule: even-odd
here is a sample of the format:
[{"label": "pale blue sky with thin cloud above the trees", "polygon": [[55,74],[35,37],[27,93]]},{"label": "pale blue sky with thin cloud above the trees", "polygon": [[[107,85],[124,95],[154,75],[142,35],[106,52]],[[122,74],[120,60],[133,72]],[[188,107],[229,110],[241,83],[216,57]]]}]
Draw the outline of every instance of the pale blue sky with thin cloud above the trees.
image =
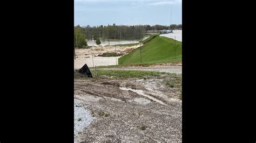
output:
[{"label": "pale blue sky with thin cloud above the trees", "polygon": [[181,0],[75,0],[74,25],[182,24]]}]

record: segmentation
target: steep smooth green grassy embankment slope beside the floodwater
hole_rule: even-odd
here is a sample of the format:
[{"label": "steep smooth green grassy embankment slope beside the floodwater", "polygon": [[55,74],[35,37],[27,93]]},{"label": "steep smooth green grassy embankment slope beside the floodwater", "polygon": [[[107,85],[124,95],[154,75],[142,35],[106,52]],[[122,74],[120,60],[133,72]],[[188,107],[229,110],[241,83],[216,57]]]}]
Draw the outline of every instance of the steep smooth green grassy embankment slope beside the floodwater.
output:
[{"label": "steep smooth green grassy embankment slope beside the floodwater", "polygon": [[[167,37],[153,38],[142,46],[142,63],[178,62],[182,59],[182,42],[176,40],[176,58],[174,58],[174,40]],[[118,64],[140,63],[140,48],[118,59]]]}]

